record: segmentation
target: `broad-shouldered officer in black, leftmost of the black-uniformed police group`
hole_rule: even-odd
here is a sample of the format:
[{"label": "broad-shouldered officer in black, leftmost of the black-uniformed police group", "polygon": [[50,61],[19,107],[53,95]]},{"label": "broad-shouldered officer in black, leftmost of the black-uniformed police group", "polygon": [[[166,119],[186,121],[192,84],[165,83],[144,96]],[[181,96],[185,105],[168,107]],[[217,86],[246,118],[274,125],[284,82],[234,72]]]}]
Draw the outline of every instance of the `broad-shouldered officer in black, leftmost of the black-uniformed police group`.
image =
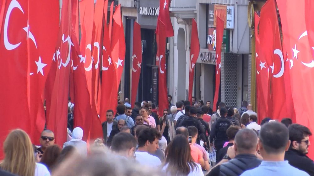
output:
[{"label": "broad-shouldered officer in black, leftmost of the black-uniformed police group", "polygon": [[183,118],[178,126],[179,127],[186,127],[186,128],[188,128],[190,126],[194,126],[198,129],[199,135],[204,135],[205,129],[204,129],[201,121],[199,121],[196,118],[197,112],[198,112],[198,110],[195,107],[191,106],[189,109],[189,116],[187,118]]}]

